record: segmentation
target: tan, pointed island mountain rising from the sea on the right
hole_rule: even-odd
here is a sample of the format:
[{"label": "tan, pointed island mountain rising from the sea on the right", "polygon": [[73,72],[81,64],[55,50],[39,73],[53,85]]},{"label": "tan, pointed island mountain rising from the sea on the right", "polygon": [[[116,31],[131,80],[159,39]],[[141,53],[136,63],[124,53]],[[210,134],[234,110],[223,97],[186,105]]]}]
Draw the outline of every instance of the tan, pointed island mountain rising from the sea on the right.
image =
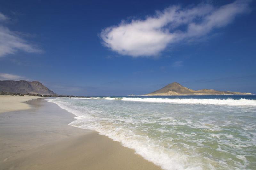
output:
[{"label": "tan, pointed island mountain rising from the sea on the right", "polygon": [[172,96],[172,95],[251,95],[252,93],[240,93],[231,91],[217,91],[212,89],[192,90],[173,82],[145,96]]}]

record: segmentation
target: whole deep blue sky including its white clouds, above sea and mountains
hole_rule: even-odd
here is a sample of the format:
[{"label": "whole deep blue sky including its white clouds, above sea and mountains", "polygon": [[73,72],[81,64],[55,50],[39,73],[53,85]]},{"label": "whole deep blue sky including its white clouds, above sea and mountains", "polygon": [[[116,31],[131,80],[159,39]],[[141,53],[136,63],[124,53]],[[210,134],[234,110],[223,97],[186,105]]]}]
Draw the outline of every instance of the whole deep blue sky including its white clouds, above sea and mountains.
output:
[{"label": "whole deep blue sky including its white clouds, above sea and mountains", "polygon": [[255,1],[1,1],[0,80],[58,94],[145,94],[173,81],[256,93]]}]

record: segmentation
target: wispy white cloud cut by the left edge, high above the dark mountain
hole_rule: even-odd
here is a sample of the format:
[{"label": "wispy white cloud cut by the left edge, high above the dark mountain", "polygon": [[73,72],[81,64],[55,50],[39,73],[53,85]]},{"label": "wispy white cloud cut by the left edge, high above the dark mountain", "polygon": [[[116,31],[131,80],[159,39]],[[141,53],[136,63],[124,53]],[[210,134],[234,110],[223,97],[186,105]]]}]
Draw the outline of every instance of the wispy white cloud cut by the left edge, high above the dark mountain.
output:
[{"label": "wispy white cloud cut by the left edge, high above the dark mountain", "polygon": [[20,34],[9,30],[4,26],[9,18],[0,12],[0,57],[7,54],[15,54],[18,50],[29,53],[41,52],[38,47],[22,38]]}]

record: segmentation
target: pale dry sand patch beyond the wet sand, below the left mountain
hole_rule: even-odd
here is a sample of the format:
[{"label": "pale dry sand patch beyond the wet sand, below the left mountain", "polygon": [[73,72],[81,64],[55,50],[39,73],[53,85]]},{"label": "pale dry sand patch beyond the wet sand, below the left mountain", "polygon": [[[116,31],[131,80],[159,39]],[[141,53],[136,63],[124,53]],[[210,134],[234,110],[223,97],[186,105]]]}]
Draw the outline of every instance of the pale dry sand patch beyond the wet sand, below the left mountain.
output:
[{"label": "pale dry sand patch beyond the wet sand, below the left mountain", "polygon": [[28,100],[42,98],[37,96],[4,96],[0,95],[0,113],[11,112],[15,110],[30,109],[26,103]]}]

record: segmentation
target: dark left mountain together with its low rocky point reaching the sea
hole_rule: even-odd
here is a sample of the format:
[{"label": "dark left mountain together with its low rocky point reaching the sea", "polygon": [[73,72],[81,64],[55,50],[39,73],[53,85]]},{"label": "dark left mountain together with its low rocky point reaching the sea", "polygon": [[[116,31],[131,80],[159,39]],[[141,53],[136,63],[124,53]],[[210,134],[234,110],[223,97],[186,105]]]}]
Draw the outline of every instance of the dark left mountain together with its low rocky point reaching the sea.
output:
[{"label": "dark left mountain together with its low rocky point reaching the sea", "polygon": [[39,81],[0,80],[0,95],[43,96],[43,97],[85,97],[58,95]]}]

